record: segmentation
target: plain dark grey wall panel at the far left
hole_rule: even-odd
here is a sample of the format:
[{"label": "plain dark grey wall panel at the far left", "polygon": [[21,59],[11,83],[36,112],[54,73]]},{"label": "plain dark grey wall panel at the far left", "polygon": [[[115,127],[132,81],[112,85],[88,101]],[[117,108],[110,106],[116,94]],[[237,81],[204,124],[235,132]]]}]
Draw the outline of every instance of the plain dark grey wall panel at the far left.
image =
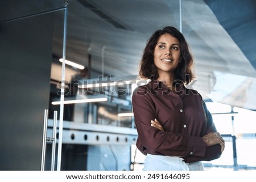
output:
[{"label": "plain dark grey wall panel at the far left", "polygon": [[53,13],[0,23],[0,170],[40,170]]}]

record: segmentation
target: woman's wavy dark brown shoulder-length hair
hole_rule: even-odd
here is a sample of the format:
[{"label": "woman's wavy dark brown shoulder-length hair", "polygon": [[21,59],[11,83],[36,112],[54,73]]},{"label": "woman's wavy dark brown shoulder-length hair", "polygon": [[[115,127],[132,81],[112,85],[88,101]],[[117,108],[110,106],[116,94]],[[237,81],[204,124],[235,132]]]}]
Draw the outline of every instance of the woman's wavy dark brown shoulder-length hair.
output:
[{"label": "woman's wavy dark brown shoulder-length hair", "polygon": [[154,64],[154,50],[161,35],[169,33],[171,36],[176,37],[180,42],[180,58],[181,62],[174,71],[174,84],[176,82],[183,82],[188,84],[195,76],[192,73],[193,57],[189,52],[188,43],[183,34],[175,27],[167,26],[163,29],[156,31],[147,41],[142,55],[139,76],[144,79],[158,79],[159,74]]}]

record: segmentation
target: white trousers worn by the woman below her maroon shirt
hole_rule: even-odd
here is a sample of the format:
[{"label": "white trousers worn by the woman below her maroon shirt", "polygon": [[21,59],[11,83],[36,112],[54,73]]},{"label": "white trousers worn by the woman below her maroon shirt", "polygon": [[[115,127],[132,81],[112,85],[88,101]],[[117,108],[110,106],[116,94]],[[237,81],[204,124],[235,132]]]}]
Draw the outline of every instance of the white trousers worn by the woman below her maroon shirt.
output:
[{"label": "white trousers worn by the woman below her maroon shirt", "polygon": [[204,171],[201,162],[185,163],[178,156],[147,154],[143,171]]}]

